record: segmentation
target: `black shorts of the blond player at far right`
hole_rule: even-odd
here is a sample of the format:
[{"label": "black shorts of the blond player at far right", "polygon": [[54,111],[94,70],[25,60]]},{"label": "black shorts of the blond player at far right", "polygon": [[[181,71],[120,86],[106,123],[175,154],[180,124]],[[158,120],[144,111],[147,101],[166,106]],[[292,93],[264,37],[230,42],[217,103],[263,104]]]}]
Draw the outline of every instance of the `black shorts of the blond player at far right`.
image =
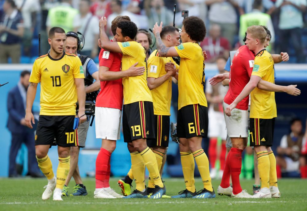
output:
[{"label": "black shorts of the blond player at far right", "polygon": [[275,118],[257,119],[250,118],[250,146],[273,145]]}]

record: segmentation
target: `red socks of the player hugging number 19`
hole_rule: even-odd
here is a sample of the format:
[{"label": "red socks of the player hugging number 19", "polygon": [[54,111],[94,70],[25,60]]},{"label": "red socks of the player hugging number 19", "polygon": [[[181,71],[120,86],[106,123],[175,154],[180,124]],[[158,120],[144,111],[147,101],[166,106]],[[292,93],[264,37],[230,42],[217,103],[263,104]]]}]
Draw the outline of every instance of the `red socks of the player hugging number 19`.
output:
[{"label": "red socks of the player hugging number 19", "polygon": [[111,152],[104,148],[100,148],[96,159],[96,188],[110,187],[110,157]]}]

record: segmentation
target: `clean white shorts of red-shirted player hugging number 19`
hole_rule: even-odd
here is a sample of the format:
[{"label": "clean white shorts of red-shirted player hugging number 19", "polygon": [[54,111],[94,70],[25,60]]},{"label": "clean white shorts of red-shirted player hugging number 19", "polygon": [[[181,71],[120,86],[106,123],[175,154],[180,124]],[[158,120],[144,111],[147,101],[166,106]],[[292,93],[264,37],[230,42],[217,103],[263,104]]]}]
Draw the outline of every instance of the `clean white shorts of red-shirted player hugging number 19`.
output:
[{"label": "clean white shorts of red-shirted player hugging number 19", "polygon": [[119,140],[121,118],[119,109],[95,107],[96,138]]}]

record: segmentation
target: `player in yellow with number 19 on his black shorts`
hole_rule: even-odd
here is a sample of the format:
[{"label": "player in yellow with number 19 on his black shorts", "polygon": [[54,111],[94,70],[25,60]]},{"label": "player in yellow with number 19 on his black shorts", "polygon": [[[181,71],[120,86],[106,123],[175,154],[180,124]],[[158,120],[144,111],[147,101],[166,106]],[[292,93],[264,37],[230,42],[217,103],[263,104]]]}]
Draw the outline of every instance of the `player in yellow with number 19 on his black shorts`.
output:
[{"label": "player in yellow with number 19 on his black shorts", "polygon": [[[102,48],[122,54],[122,70],[129,69],[137,62],[136,67],[146,67],[145,49],[134,40],[138,31],[137,26],[131,21],[120,21],[115,35],[117,42],[111,42],[105,33],[106,25],[107,18],[102,17],[99,21]],[[155,184],[150,198],[161,198],[165,194],[156,157],[146,144],[147,138],[155,138],[153,99],[146,78],[147,74],[122,79],[124,95],[122,127],[124,141],[128,143],[131,155],[131,170],[136,182],[136,190],[124,198],[147,198],[144,183],[145,165]]]}]

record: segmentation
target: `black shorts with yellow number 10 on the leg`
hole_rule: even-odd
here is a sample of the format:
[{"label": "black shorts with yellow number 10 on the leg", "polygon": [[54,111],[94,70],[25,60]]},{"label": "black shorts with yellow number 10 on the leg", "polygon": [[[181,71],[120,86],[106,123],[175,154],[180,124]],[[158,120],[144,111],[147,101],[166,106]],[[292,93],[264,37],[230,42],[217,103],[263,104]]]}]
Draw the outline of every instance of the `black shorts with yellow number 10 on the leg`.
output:
[{"label": "black shorts with yellow number 10 on the leg", "polygon": [[52,145],[54,138],[56,138],[58,146],[79,146],[77,129],[73,129],[74,119],[74,115],[40,115],[35,134],[35,145]]}]

